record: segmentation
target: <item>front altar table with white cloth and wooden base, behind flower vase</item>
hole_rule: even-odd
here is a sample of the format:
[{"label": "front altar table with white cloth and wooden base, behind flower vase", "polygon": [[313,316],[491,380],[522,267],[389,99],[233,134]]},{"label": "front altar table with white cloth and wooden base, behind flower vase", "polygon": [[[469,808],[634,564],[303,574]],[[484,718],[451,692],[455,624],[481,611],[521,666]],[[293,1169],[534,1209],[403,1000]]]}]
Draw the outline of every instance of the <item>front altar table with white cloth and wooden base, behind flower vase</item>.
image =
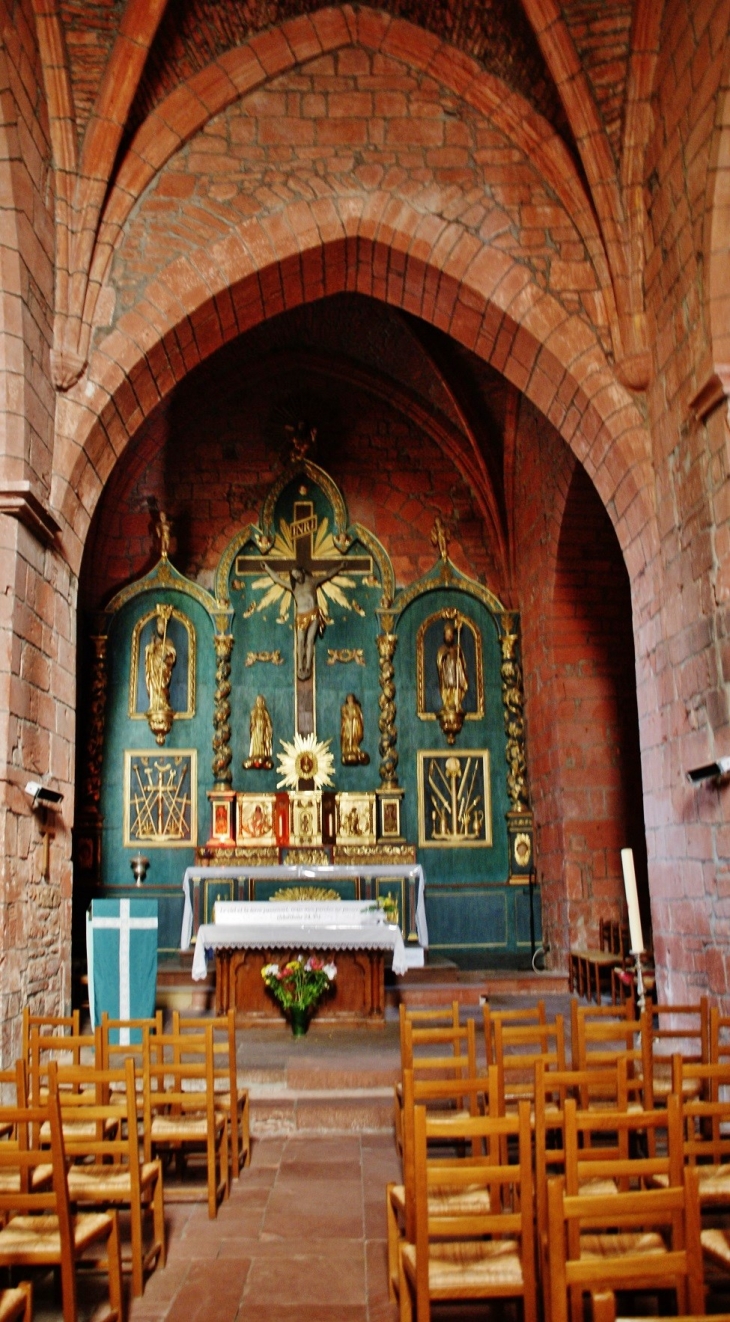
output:
[{"label": "front altar table with white cloth and wooden base, behind flower vase", "polygon": [[407,964],[401,929],[373,912],[368,902],[233,902],[216,906],[216,923],[198,928],[193,978],[206,973],[206,952],[216,956],[216,1013],[233,1006],[243,1022],[282,1022],[283,1011],[267,992],[261,970],[312,951],[337,966],[331,994],[316,1018],[340,1023],[385,1022],[385,952],[395,973]]}]

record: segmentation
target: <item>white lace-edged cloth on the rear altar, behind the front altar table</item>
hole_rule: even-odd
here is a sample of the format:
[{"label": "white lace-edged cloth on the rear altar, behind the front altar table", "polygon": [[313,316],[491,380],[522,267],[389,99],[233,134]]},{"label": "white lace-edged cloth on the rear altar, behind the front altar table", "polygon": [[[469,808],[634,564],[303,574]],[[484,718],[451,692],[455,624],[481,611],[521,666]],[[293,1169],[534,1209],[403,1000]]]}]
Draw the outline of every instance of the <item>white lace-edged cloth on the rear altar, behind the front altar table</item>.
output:
[{"label": "white lace-edged cloth on the rear altar, behind the front altar table", "polygon": [[[428,949],[428,927],[426,924],[426,902],[423,899],[423,890],[426,886],[426,878],[423,876],[423,869],[421,863],[405,863],[399,866],[398,863],[381,863],[381,865],[357,865],[357,863],[332,863],[332,865],[316,865],[305,866],[304,863],[280,863],[271,867],[246,867],[246,865],[237,865],[229,867],[188,867],[185,869],[185,875],[182,878],[182,892],[185,896],[182,908],[182,929],[180,932],[180,949],[188,951],[190,941],[193,939],[193,902],[190,896],[190,882],[200,880],[201,878],[208,878],[210,882],[226,880],[235,876],[251,876],[255,880],[262,882],[309,882],[319,886],[327,883],[328,880],[337,880],[340,878],[349,876],[362,876],[362,878],[415,878],[417,898],[415,898],[415,931],[418,933],[418,943],[425,951]],[[230,900],[226,903],[237,903]],[[242,902],[246,907],[253,903],[259,903],[258,900]],[[264,903],[264,902],[261,902]],[[270,902],[266,902],[267,904]],[[279,903],[279,902],[276,902]],[[333,902],[335,903],[335,902]],[[337,904],[360,904],[360,900],[337,900]],[[366,900],[362,903],[368,903]],[[272,908],[272,906],[271,906]],[[268,910],[271,912],[271,910]],[[209,923],[208,927],[214,924]],[[202,977],[204,974],[200,974]]]}]

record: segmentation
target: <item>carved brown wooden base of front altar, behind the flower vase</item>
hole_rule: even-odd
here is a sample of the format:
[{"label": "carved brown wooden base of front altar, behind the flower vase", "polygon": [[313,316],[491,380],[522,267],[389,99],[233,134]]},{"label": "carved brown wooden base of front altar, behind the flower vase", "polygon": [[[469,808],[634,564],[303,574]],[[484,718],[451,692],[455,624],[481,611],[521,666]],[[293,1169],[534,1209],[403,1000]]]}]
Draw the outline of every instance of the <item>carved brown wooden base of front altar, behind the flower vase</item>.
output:
[{"label": "carved brown wooden base of front altar, behind the flower vase", "polygon": [[[264,964],[286,964],[292,956],[308,951],[276,948],[268,951],[216,951],[216,1013],[235,1007],[237,1023],[243,1026],[286,1023],[284,1011],[267,992],[261,970]],[[317,951],[325,964],[337,965],[335,989],[325,993],[312,1022],[340,1025],[385,1025],[385,952],[384,951]]]}]

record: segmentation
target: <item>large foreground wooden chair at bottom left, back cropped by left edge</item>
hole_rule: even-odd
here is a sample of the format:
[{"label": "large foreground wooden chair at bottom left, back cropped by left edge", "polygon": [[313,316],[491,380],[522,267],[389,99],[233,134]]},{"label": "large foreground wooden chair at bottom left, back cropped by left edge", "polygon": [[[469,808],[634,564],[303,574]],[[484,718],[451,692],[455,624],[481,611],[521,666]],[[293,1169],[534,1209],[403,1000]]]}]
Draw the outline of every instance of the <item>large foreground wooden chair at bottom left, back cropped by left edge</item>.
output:
[{"label": "large foreground wooden chair at bottom left, back cropped by left edge", "polygon": [[[45,1107],[0,1108],[0,1120],[11,1121],[19,1133],[17,1146],[0,1142],[0,1174],[11,1169],[19,1177],[15,1190],[4,1190],[0,1181],[0,1211],[8,1214],[7,1224],[0,1228],[0,1266],[60,1266],[63,1322],[75,1322],[75,1265],[93,1244],[106,1243],[108,1322],[122,1322],[122,1261],[116,1212],[79,1212],[71,1216],[57,1089],[52,1087]],[[48,1147],[37,1147],[32,1142],[32,1134],[44,1125],[48,1125],[50,1133],[50,1154]],[[38,1167],[48,1171],[49,1155],[52,1185],[34,1187],[34,1174]]]}]

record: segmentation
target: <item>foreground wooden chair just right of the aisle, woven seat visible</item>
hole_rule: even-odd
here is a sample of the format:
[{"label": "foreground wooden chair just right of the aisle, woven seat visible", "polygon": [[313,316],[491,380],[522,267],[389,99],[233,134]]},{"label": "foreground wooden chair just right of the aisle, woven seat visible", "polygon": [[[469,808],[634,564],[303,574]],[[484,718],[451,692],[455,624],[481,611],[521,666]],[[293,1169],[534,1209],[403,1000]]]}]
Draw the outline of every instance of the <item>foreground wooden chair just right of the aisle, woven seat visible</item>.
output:
[{"label": "foreground wooden chair just right of the aisle, woven seat visible", "polygon": [[[484,1163],[454,1157],[434,1166],[430,1141],[472,1146],[485,1144]],[[517,1144],[518,1161],[493,1159],[508,1141]],[[489,1147],[492,1151],[489,1151]],[[425,1107],[414,1110],[415,1239],[401,1247],[401,1322],[428,1322],[431,1300],[521,1298],[525,1322],[537,1322],[534,1273],[533,1179],[529,1104],[517,1116],[443,1120]],[[428,1207],[442,1185],[480,1186],[489,1194],[489,1211],[459,1214]]]}]

